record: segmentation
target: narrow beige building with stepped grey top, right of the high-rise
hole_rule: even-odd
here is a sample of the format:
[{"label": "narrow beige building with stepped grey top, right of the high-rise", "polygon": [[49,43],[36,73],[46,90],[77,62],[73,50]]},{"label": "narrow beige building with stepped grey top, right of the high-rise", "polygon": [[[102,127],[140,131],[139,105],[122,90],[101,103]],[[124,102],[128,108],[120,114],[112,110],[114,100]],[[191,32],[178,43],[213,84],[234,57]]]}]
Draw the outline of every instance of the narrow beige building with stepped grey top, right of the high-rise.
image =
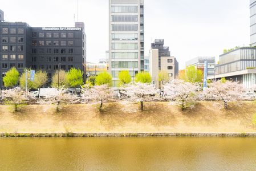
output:
[{"label": "narrow beige building with stepped grey top, right of the high-rise", "polygon": [[159,71],[168,72],[170,80],[178,76],[178,62],[174,56],[170,56],[169,47],[164,47],[164,39],[156,39],[149,51],[149,73],[157,88]]}]

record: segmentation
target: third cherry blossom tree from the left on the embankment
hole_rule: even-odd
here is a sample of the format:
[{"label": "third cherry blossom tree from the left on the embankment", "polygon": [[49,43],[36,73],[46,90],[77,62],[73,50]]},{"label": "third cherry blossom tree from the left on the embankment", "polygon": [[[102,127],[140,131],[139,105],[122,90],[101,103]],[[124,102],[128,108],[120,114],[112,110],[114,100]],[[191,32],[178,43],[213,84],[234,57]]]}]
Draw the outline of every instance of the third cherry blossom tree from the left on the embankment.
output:
[{"label": "third cherry blossom tree from the left on the embankment", "polygon": [[90,87],[84,85],[81,90],[82,103],[95,102],[99,105],[99,111],[102,112],[103,103],[111,100],[113,98],[113,93],[108,84],[103,84],[101,86]]}]

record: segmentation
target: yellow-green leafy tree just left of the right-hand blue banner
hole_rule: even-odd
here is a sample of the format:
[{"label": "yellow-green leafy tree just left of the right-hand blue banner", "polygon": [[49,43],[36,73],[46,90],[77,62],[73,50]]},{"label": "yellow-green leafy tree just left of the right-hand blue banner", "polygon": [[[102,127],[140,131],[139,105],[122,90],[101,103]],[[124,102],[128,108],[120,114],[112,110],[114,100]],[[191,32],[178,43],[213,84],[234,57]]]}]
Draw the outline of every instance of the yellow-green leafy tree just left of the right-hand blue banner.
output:
[{"label": "yellow-green leafy tree just left of the right-hand blue banner", "polygon": [[189,83],[202,83],[204,75],[201,70],[197,70],[195,66],[188,66],[185,69],[185,74],[180,79]]}]

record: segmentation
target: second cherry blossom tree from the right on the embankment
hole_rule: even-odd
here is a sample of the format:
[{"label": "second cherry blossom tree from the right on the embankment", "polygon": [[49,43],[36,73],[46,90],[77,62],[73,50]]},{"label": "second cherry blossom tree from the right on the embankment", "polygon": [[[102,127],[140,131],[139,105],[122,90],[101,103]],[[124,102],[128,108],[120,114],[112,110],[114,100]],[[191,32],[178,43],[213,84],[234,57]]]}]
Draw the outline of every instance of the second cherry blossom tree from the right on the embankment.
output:
[{"label": "second cherry blossom tree from the right on the embankment", "polygon": [[182,111],[196,107],[201,87],[198,83],[189,83],[184,80],[172,80],[164,85],[164,98],[172,104],[181,107]]}]

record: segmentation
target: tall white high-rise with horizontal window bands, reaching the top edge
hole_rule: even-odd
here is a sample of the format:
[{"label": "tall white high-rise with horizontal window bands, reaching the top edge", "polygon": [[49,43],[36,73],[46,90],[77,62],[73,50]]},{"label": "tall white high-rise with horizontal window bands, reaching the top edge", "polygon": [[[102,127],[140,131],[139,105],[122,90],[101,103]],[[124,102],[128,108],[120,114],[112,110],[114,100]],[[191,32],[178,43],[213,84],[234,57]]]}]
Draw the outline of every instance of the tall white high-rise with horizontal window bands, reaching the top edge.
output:
[{"label": "tall white high-rise with horizontal window bands, reaching the top edge", "polygon": [[144,0],[109,0],[109,72],[144,71]]}]

